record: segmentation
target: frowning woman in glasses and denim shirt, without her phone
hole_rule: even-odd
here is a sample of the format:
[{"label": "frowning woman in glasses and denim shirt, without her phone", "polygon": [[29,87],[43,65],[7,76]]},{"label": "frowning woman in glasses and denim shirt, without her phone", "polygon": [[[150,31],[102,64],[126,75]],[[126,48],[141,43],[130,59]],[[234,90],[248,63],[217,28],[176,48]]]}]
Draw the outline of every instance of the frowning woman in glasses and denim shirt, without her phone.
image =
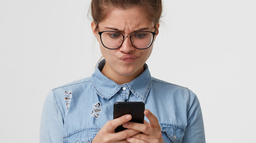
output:
[{"label": "frowning woman in glasses and denim shirt, without her phone", "polygon": [[[161,11],[161,0],[92,0],[91,27],[104,59],[92,77],[49,92],[40,142],[205,142],[196,95],[151,77],[145,64]],[[144,124],[129,122],[131,115],[113,119],[113,104],[128,101],[145,103]],[[115,133],[119,125],[128,129]]]}]

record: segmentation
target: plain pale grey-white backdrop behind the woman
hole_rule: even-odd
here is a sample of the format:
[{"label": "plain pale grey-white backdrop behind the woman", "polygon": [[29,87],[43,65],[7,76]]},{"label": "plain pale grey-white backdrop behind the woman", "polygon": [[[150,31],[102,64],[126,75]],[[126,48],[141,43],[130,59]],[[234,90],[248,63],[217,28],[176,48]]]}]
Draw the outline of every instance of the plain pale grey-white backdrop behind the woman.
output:
[{"label": "plain pale grey-white backdrop behind the woman", "polygon": [[[0,0],[0,142],[39,142],[46,94],[100,58],[89,0]],[[200,100],[207,143],[255,142],[255,0],[163,0],[146,62]]]}]

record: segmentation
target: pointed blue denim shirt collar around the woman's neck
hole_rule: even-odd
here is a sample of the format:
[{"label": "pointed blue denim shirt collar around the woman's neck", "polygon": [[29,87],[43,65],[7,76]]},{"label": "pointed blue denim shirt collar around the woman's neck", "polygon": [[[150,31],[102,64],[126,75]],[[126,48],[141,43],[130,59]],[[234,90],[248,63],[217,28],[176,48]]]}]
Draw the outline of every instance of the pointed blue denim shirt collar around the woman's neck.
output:
[{"label": "pointed blue denim shirt collar around the woman's neck", "polygon": [[100,72],[105,63],[106,61],[104,59],[101,60],[97,64],[95,72],[92,74],[91,84],[97,94],[104,99],[110,99],[120,90],[121,87],[126,85],[136,97],[145,103],[149,89],[152,85],[152,79],[148,70],[148,65],[146,63],[144,64],[145,70],[133,81],[119,85]]}]

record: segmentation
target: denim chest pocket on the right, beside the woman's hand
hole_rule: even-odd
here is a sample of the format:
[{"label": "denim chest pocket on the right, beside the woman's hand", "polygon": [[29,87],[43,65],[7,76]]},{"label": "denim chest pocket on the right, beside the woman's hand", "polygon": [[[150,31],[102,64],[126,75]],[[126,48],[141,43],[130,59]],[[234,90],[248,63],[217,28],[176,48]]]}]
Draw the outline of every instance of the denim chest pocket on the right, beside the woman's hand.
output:
[{"label": "denim chest pocket on the right, beside the woman's hand", "polygon": [[160,124],[164,143],[181,143],[184,130],[172,125]]}]

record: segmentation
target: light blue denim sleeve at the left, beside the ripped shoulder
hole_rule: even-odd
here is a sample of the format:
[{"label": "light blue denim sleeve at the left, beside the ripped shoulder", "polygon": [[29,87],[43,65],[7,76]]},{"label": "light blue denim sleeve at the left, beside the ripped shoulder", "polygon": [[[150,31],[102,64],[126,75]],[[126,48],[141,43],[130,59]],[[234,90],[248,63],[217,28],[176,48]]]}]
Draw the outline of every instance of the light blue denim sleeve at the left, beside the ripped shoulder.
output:
[{"label": "light blue denim sleeve at the left, beside the ripped shoulder", "polygon": [[40,143],[63,142],[64,122],[62,115],[53,90],[51,90],[43,105],[39,135]]}]

